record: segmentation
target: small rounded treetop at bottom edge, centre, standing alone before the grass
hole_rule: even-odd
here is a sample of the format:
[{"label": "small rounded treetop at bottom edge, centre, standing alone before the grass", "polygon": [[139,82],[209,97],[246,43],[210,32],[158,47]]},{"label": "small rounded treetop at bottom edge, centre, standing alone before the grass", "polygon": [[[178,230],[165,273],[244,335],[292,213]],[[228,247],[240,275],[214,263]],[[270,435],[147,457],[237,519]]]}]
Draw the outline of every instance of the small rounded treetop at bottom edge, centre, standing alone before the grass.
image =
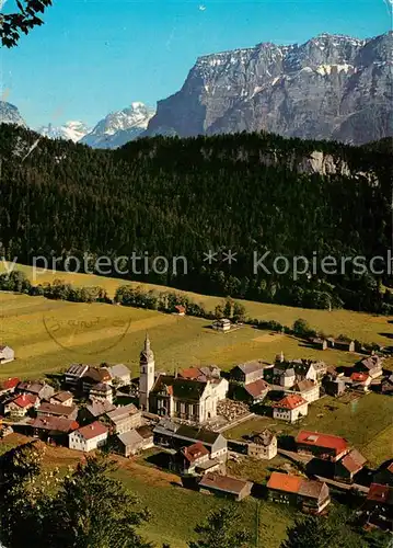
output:
[{"label": "small rounded treetop at bottom edge, centre, standing alone before the grass", "polygon": [[198,540],[190,541],[189,548],[246,548],[250,533],[242,528],[242,518],[234,506],[211,512],[203,525],[195,528]]}]

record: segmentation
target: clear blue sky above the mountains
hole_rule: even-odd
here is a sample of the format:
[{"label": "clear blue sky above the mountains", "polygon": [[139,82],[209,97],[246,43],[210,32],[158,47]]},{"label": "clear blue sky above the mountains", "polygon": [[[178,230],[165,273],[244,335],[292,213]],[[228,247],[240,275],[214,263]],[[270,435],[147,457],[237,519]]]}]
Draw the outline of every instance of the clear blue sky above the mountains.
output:
[{"label": "clear blue sky above the mountains", "polygon": [[[13,0],[3,10],[11,11]],[[391,28],[389,0],[54,0],[45,25],[0,53],[1,88],[27,124],[95,124],[132,101],[155,105],[199,55],[322,32]]]}]

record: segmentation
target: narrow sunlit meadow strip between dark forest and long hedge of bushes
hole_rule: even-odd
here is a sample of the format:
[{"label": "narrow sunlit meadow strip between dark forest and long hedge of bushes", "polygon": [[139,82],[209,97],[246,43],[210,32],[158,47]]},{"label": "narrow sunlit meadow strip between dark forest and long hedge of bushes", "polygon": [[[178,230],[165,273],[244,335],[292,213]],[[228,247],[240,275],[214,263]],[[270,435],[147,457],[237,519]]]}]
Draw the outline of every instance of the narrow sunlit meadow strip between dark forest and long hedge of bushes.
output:
[{"label": "narrow sunlit meadow strip between dark forest and long hedge of bushes", "polygon": [[[0,272],[4,271],[5,265],[0,263]],[[147,289],[157,289],[159,292],[172,290],[173,288],[167,288],[164,286],[151,285],[151,284],[139,284],[136,282],[129,282],[118,278],[95,276],[89,274],[72,274],[66,272],[45,272],[34,276],[32,266],[25,266],[18,264],[16,270],[23,271],[27,277],[35,284],[53,282],[54,279],[63,279],[65,282],[71,283],[78,286],[102,286],[109,295],[114,295],[116,288],[119,285],[131,284],[132,286],[142,285]],[[178,292],[182,293],[182,292]],[[204,304],[205,308],[208,310],[213,310],[218,302],[222,299],[219,297],[211,297],[206,295],[197,295],[194,293],[187,293],[196,302]],[[393,331],[392,324],[388,323],[388,319],[384,317],[367,315],[362,312],[352,312],[349,310],[333,310],[332,312],[327,310],[311,310],[293,307],[285,307],[279,305],[269,305],[264,302],[253,302],[244,300],[242,301],[246,308],[247,315],[251,318],[257,318],[259,320],[276,320],[285,326],[291,327],[298,318],[304,318],[309,321],[312,328],[316,330],[322,330],[326,334],[333,334],[338,336],[339,334],[346,334],[352,339],[358,339],[362,342],[377,342],[380,344],[388,344],[389,339],[383,333],[389,333]]]}]

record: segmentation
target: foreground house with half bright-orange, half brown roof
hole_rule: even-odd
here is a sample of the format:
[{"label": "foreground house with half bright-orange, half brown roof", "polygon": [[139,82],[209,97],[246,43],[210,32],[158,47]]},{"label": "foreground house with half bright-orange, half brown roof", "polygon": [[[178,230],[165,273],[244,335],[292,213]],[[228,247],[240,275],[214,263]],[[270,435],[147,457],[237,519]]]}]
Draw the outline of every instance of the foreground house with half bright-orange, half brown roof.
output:
[{"label": "foreground house with half bright-orange, half brown roof", "polygon": [[267,490],[270,501],[293,504],[311,514],[320,514],[331,502],[326,483],[290,473],[273,472]]}]

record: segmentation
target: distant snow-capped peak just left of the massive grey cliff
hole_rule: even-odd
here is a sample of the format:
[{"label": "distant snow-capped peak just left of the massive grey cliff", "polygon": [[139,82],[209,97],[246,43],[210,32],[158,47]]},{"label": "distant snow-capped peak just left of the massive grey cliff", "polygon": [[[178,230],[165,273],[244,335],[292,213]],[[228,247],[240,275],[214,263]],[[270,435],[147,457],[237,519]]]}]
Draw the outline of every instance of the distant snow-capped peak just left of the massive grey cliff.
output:
[{"label": "distant snow-capped peak just left of the massive grey cliff", "polygon": [[85,135],[81,142],[93,148],[118,148],[139,137],[148,127],[154,111],[143,103],[108,114]]}]

